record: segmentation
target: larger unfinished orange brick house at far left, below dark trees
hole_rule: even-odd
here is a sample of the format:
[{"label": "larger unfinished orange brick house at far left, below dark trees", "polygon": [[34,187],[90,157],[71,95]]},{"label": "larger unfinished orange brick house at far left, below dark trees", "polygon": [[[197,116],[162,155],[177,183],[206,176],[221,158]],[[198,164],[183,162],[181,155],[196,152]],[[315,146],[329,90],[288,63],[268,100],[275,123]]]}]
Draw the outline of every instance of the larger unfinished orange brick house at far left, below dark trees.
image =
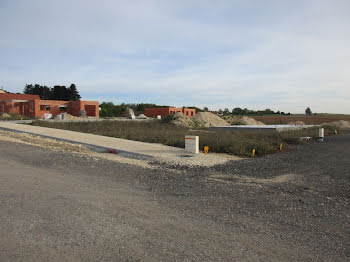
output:
[{"label": "larger unfinished orange brick house at far left, below dark trees", "polygon": [[0,112],[42,118],[45,113],[56,116],[68,113],[79,116],[84,109],[87,116],[99,116],[99,103],[96,101],[41,100],[39,95],[0,93]]}]

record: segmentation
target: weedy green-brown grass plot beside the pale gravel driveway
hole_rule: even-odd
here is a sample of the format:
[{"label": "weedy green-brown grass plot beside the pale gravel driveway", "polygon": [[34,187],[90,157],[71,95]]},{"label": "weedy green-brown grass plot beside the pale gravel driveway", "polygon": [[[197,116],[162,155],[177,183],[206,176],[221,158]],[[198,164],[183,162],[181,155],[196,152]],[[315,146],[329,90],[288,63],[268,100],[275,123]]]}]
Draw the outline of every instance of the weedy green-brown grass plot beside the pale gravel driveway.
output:
[{"label": "weedy green-brown grass plot beside the pale gravel driveway", "polygon": [[[302,136],[316,136],[316,128],[285,132],[209,132],[204,129],[190,130],[162,121],[101,121],[101,122],[46,122],[35,121],[33,125],[66,129],[77,132],[92,133],[103,136],[124,138],[150,143],[161,143],[169,146],[184,147],[184,136],[198,135],[200,148],[209,146],[210,152],[227,153],[237,156],[250,156],[253,148],[256,155],[265,155],[278,151],[280,143],[285,149],[289,145],[304,143]],[[326,128],[325,133],[334,132]]]}]

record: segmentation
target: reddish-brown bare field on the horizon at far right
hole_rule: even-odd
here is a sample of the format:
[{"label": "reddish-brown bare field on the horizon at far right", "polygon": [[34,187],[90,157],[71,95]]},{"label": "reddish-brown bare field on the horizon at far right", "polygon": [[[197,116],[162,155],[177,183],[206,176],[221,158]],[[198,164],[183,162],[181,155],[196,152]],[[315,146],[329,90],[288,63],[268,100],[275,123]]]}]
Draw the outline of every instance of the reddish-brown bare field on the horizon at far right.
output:
[{"label": "reddish-brown bare field on the horizon at far right", "polygon": [[306,125],[319,125],[339,120],[350,121],[350,115],[291,115],[291,116],[251,116],[252,118],[267,125],[288,124],[291,122],[302,121]]}]

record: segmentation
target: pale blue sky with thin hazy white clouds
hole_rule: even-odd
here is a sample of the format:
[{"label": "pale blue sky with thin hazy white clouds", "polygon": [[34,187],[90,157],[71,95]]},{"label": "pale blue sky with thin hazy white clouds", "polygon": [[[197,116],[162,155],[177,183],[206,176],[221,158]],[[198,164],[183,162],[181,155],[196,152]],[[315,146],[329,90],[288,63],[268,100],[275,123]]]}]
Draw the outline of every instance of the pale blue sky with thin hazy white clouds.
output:
[{"label": "pale blue sky with thin hazy white clouds", "polygon": [[0,88],[350,114],[349,0],[0,0]]}]

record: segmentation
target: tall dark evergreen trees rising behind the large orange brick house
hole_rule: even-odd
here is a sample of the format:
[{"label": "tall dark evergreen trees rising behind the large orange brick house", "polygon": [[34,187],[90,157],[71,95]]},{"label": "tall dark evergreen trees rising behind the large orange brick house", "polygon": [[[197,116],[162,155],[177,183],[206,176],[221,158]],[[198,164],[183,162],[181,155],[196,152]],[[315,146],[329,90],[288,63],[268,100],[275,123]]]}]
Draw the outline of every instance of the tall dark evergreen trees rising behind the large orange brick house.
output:
[{"label": "tall dark evergreen trees rising behind the large orange brick house", "polygon": [[76,101],[81,98],[75,84],[71,84],[69,87],[59,85],[48,87],[30,84],[25,86],[23,93],[39,95],[42,100]]}]

